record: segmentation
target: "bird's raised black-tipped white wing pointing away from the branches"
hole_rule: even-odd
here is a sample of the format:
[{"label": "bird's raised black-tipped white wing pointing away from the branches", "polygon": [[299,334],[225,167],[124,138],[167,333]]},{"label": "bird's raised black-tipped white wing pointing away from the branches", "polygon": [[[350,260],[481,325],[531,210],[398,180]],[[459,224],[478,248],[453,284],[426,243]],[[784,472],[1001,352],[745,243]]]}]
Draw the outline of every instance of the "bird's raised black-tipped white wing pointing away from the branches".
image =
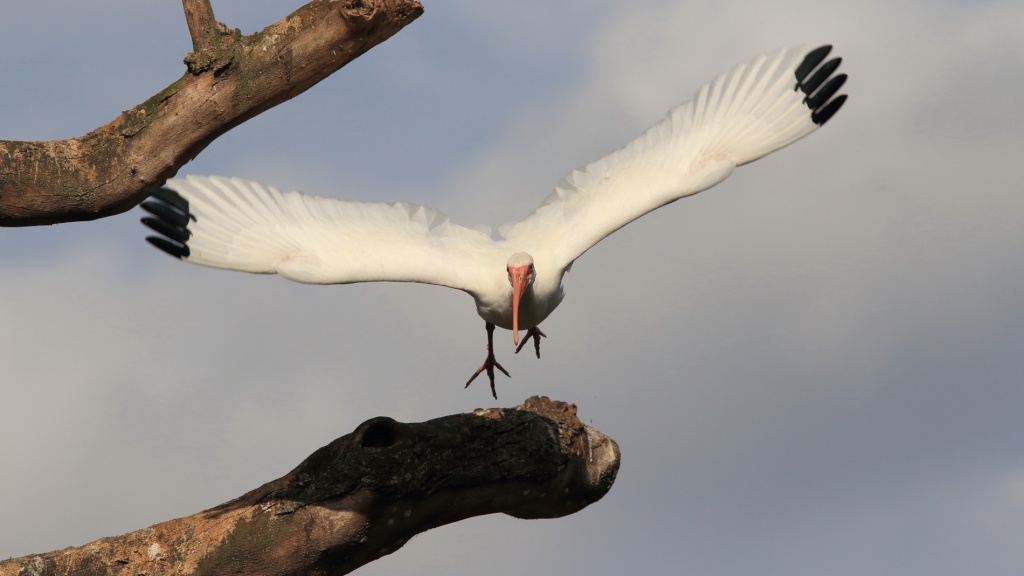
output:
[{"label": "bird's raised black-tipped white wing pointing away from the branches", "polygon": [[[725,179],[732,169],[810,134],[839,111],[831,46],[783,48],[741,64],[625,148],[568,174],[510,244],[559,266],[636,218]],[[822,64],[823,63],[823,64]]]}]

